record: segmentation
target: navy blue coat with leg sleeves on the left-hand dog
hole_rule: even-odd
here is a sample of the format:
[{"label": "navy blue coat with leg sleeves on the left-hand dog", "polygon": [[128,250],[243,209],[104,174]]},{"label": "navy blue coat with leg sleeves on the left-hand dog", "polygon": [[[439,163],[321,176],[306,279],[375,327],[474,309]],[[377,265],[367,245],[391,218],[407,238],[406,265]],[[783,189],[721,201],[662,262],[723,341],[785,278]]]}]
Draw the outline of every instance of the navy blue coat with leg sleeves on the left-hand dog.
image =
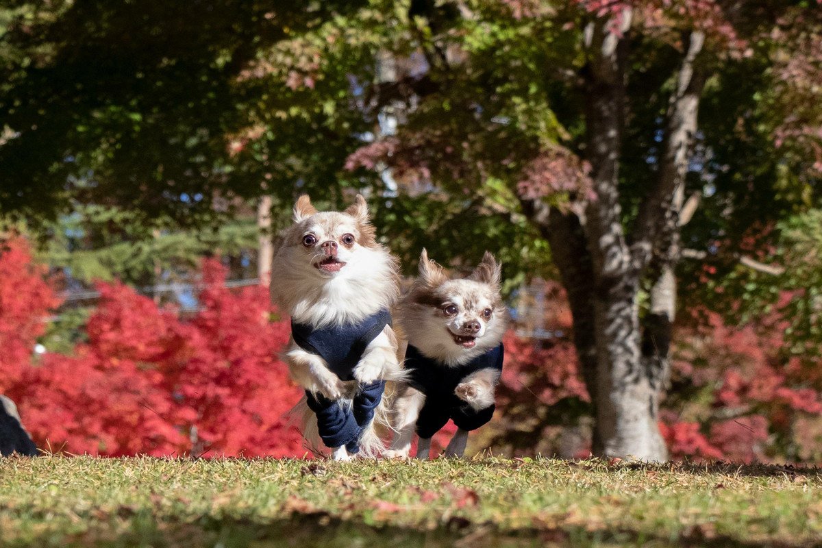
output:
[{"label": "navy blue coat with leg sleeves on the left-hand dog", "polygon": [[[368,344],[390,322],[391,315],[387,310],[378,311],[356,324],[330,325],[321,329],[292,321],[291,335],[300,348],[325,360],[330,370],[341,380],[353,380],[354,366],[363,357]],[[350,409],[321,394],[312,394],[306,390],[308,408],[316,414],[316,424],[323,443],[327,447],[345,445],[349,453],[357,453],[360,432],[374,418],[374,411],[380,404],[385,389],[384,380],[361,385]]]}]

